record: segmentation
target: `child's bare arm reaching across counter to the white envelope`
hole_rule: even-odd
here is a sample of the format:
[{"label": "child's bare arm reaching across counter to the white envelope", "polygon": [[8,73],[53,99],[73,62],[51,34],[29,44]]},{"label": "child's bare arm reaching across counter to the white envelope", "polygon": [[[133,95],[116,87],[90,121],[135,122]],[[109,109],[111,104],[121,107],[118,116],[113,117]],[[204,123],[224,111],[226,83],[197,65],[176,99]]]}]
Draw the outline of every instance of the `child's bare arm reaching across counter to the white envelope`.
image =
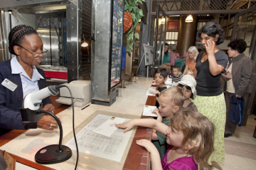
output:
[{"label": "child's bare arm reaching across counter to the white envelope", "polygon": [[143,126],[147,128],[156,129],[159,133],[166,135],[166,129],[169,128],[166,124],[163,124],[155,119],[133,119],[126,123],[115,124],[117,128],[124,129],[124,133],[134,128],[134,126]]}]

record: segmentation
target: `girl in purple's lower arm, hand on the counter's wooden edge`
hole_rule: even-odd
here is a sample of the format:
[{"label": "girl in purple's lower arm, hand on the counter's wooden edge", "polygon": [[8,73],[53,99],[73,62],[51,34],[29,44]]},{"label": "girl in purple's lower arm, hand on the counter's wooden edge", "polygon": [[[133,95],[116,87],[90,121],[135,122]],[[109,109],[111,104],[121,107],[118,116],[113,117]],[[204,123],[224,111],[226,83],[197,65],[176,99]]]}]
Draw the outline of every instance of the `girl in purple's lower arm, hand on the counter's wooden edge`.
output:
[{"label": "girl in purple's lower arm, hand on the counter's wooden edge", "polygon": [[152,170],[163,170],[162,164],[161,164],[161,159],[159,152],[156,149],[156,146],[151,143],[151,141],[146,140],[146,139],[141,139],[136,141],[137,145],[143,146],[151,155],[151,169]]}]

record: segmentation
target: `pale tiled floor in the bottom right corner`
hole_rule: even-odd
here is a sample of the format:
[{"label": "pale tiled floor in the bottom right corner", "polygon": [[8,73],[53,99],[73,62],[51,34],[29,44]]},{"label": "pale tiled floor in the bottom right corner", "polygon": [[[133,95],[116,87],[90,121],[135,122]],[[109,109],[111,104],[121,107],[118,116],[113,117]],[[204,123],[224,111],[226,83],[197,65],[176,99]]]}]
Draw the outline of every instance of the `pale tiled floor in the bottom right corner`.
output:
[{"label": "pale tiled floor in the bottom right corner", "polygon": [[255,115],[248,117],[247,126],[237,127],[235,134],[225,138],[225,165],[216,169],[256,169]]}]

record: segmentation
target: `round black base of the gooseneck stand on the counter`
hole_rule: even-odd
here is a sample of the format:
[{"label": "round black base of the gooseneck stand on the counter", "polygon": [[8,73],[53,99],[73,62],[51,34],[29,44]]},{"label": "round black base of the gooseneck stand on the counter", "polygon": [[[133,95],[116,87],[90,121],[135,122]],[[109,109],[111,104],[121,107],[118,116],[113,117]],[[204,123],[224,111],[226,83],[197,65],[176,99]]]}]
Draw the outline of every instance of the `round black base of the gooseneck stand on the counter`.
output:
[{"label": "round black base of the gooseneck stand on the counter", "polygon": [[58,144],[52,144],[40,149],[35,155],[35,161],[40,164],[56,164],[67,161],[71,156],[72,151],[67,146],[62,146],[60,151]]}]

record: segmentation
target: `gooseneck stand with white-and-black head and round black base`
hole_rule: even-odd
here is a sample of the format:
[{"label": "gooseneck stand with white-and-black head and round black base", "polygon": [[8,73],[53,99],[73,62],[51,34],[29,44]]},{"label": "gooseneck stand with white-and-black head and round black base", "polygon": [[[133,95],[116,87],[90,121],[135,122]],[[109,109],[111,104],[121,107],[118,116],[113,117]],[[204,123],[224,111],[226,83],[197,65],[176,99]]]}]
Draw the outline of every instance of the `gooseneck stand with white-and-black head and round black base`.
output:
[{"label": "gooseneck stand with white-and-black head and round black base", "polygon": [[[29,93],[23,100],[23,108],[20,108],[23,123],[38,122],[43,117],[43,113],[49,114],[53,117],[60,128],[60,141],[59,144],[52,144],[41,148],[35,155],[36,163],[40,164],[55,164],[61,163],[71,158],[72,151],[67,146],[62,145],[63,130],[60,120],[55,114],[48,111],[38,111],[43,99],[50,95],[56,96],[59,92],[58,89],[67,86],[60,84],[55,86],[48,86],[37,91],[36,93]],[[70,90],[70,89],[69,89]],[[71,93],[71,92],[70,92]],[[72,96],[72,94],[70,94]],[[72,103],[73,104],[73,103]]]}]

